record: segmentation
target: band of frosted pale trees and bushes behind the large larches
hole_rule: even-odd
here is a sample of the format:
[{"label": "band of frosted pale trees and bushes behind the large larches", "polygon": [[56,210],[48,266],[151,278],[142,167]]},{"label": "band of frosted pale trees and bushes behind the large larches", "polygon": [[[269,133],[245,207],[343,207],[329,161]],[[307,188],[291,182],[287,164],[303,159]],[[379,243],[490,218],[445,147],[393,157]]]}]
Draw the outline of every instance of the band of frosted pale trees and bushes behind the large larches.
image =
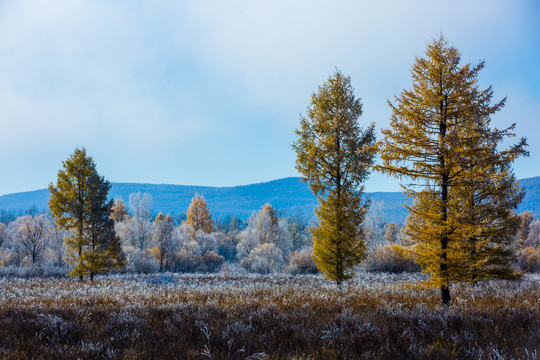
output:
[{"label": "band of frosted pale trees and bushes behind the large larches", "polygon": [[[211,209],[208,212],[211,214]],[[174,221],[163,222],[167,217]],[[246,222],[235,216],[218,218],[210,232],[199,230],[194,239],[189,237],[194,232],[191,225],[185,223],[187,216],[156,215],[150,194],[130,194],[127,203],[116,199],[111,218],[126,259],[122,272],[214,272],[228,268],[234,271],[238,267],[261,274],[318,272],[312,259],[313,242],[308,222],[300,215],[283,216],[270,204],[254,212]],[[172,228],[172,232],[163,228]],[[370,206],[362,229],[368,251],[359,271],[420,271],[411,256],[414,247],[407,244],[403,234],[405,226],[387,222],[381,203]],[[66,230],[58,228],[50,212],[40,213],[34,208],[0,223],[0,275],[67,274],[69,265],[64,242],[67,235]],[[524,212],[514,237],[516,268],[540,271],[539,246],[540,219],[534,219],[531,212]],[[275,256],[276,253],[279,256]]]}]

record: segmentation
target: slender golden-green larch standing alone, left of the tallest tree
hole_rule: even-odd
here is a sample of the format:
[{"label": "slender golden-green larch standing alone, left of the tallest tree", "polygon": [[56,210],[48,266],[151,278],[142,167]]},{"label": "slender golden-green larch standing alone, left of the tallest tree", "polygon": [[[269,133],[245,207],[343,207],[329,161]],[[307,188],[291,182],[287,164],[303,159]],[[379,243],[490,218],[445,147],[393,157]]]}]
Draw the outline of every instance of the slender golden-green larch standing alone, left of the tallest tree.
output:
[{"label": "slender golden-green larch standing alone, left of the tallest tree", "polygon": [[320,203],[319,224],[310,229],[314,261],[338,286],[354,275],[351,268],[366,253],[361,224],[369,201],[362,199],[362,184],[373,165],[375,127],[362,130],[360,115],[350,77],[336,70],[312,95],[292,145],[296,169]]}]

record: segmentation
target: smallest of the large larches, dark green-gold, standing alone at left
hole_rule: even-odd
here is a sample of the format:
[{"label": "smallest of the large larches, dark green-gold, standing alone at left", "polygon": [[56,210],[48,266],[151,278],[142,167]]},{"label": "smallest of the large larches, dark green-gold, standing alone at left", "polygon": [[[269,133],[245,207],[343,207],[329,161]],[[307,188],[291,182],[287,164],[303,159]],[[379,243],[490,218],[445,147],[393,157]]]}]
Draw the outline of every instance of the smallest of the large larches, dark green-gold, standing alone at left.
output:
[{"label": "smallest of the large larches, dark green-gold, standing alone at left", "polygon": [[71,276],[82,281],[85,275],[121,268],[125,260],[120,241],[110,219],[112,201],[107,201],[110,183],[99,176],[86,150],[75,149],[58,171],[56,186],[49,185],[49,208],[65,238]]}]

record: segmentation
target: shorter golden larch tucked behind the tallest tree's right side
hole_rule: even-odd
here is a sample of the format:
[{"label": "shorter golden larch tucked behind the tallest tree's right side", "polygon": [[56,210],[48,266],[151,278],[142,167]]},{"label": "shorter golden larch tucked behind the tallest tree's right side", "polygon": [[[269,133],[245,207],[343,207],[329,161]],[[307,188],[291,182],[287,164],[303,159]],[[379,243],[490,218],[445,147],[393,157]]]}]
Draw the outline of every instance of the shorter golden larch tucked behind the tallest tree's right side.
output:
[{"label": "shorter golden larch tucked behind the tallest tree's right side", "polygon": [[[487,119],[489,122],[489,118]],[[457,238],[466,261],[462,281],[519,277],[515,264],[514,235],[520,218],[515,209],[525,195],[510,168],[519,149],[497,151],[503,136],[497,130],[482,129],[484,144],[474,144],[475,158],[468,161],[459,184],[450,189],[455,197]]]}]

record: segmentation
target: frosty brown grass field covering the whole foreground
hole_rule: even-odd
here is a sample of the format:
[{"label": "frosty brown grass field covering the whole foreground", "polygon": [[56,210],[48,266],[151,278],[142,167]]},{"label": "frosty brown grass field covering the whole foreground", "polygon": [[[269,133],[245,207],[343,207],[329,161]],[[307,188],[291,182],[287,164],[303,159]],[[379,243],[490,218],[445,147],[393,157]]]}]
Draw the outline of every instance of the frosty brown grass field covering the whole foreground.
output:
[{"label": "frosty brown grass field covering the whole foreground", "polygon": [[2,359],[538,359],[540,277],[453,286],[422,275],[0,278]]}]

